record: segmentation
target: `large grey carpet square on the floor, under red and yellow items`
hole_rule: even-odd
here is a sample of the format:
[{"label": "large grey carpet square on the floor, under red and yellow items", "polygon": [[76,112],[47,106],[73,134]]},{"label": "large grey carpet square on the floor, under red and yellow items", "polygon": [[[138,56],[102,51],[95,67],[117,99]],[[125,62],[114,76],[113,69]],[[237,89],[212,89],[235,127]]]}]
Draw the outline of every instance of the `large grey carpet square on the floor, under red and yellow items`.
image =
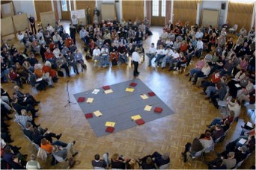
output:
[{"label": "large grey carpet square on the floor, under red and yellow items", "polygon": [[[131,83],[136,86],[129,86]],[[103,84],[106,86],[109,84]],[[152,92],[140,79],[136,78],[131,81],[125,81],[119,84],[109,85],[112,93],[106,94],[103,86],[97,94],[93,94],[94,89],[86,92],[74,94],[76,101],[79,97],[84,97],[84,102],[78,102],[84,114],[94,113],[100,110],[103,115],[97,117],[93,114],[93,118],[87,119],[97,137],[108,135],[106,132],[106,122],[115,122],[115,132],[126,130],[136,126],[136,122],[132,121],[131,117],[140,115],[145,123],[169,116],[174,113],[157,95],[150,97],[147,93]],[[133,92],[127,92],[127,87],[134,89]],[[146,94],[147,99],[142,99],[141,94]],[[92,103],[87,103],[88,98],[94,98]],[[150,111],[145,111],[146,105],[152,106]],[[154,108],[161,107],[162,113],[155,113]],[[143,125],[142,125],[143,126]]]}]

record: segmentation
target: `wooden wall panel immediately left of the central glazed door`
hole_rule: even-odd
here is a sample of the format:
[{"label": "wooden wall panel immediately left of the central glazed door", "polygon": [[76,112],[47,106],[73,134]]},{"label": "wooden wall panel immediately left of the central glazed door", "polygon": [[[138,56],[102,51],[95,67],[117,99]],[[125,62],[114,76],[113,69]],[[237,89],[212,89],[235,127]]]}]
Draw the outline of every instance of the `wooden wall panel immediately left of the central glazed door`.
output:
[{"label": "wooden wall panel immediately left of the central glazed door", "polygon": [[123,18],[128,21],[136,18],[143,21],[144,19],[144,1],[122,1]]}]

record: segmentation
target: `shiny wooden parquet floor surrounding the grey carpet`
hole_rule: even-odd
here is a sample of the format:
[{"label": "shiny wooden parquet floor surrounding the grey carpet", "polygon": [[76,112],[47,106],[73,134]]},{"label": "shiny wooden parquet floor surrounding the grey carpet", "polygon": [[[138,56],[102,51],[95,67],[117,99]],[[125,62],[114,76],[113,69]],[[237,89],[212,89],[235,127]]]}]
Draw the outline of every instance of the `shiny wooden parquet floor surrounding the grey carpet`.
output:
[{"label": "shiny wooden parquet floor surrounding the grey carpet", "polygon": [[[65,23],[64,23],[65,24]],[[68,23],[66,23],[67,25]],[[66,29],[68,30],[68,29]],[[144,42],[145,51],[149,48],[150,42],[155,42],[161,33],[162,28],[151,28],[153,36],[148,37]],[[13,43],[10,40],[9,43]],[[14,41],[16,47],[20,47],[19,42]],[[77,36],[77,45],[82,49],[82,42]],[[40,60],[40,56],[37,56]],[[200,160],[193,160],[192,165],[183,163],[180,160],[180,152],[183,151],[186,142],[192,142],[192,139],[199,137],[204,133],[206,125],[219,117],[219,110],[204,100],[204,95],[200,95],[201,89],[188,82],[184,73],[168,72],[167,70],[157,69],[156,67],[147,67],[146,60],[139,66],[138,76],[144,84],[156,92],[156,95],[162,99],[172,110],[174,115],[148,122],[145,125],[132,127],[118,133],[97,138],[91,129],[87,120],[79,108],[78,104],[67,104],[67,80],[69,83],[70,101],[76,102],[74,93],[94,89],[104,84],[116,84],[133,78],[132,66],[124,64],[112,68],[99,68],[94,66],[91,61],[86,61],[88,69],[81,72],[80,75],[72,75],[71,78],[60,78],[54,88],[43,92],[37,92],[31,89],[30,85],[25,85],[23,92],[30,92],[37,100],[40,100],[39,118],[37,124],[55,133],[62,133],[61,141],[71,142],[76,140],[75,148],[79,154],[75,157],[81,163],[73,169],[92,169],[91,160],[94,154],[103,155],[109,152],[109,155],[118,153],[124,157],[143,157],[152,154],[153,151],[163,153],[167,151],[171,157],[171,166],[169,169],[207,169],[207,166]],[[195,62],[194,62],[195,63]],[[193,68],[193,64],[187,70]],[[13,84],[2,84],[4,89],[12,94]],[[255,119],[255,118],[254,118]],[[228,137],[224,142],[216,145],[216,152],[223,151],[228,142],[237,139],[240,133],[240,125],[250,120],[245,108],[242,108],[239,122],[234,122]],[[13,121],[10,123],[10,132],[14,139],[13,145],[21,146],[23,154],[32,154],[33,146],[22,133],[19,125]],[[207,154],[205,160],[213,160],[215,154]],[[43,169],[62,169],[64,166],[59,163],[51,166],[49,160],[43,162],[39,160]],[[255,165],[255,153],[243,163],[241,169],[249,169]]]}]

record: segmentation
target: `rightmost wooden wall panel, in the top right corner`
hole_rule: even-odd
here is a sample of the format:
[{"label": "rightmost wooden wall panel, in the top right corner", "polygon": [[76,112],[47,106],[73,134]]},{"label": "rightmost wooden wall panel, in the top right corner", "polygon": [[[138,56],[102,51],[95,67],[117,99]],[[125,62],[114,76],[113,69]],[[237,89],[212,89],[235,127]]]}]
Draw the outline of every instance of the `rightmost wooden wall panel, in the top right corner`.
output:
[{"label": "rightmost wooden wall panel, in the top right corner", "polygon": [[237,31],[240,31],[240,29],[244,26],[248,32],[251,30],[252,13],[253,4],[240,4],[230,2],[228,4],[228,25],[233,27],[234,24],[237,24]]}]

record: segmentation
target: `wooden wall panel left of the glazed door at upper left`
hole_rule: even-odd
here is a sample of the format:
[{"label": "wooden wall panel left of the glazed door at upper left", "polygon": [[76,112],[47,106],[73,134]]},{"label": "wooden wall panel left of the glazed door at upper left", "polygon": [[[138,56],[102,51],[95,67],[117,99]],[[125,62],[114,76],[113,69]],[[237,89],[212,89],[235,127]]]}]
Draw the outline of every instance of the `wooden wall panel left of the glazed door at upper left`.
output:
[{"label": "wooden wall panel left of the glazed door at upper left", "polygon": [[52,2],[34,0],[34,8],[37,13],[37,20],[40,21],[40,13],[52,11]]}]

